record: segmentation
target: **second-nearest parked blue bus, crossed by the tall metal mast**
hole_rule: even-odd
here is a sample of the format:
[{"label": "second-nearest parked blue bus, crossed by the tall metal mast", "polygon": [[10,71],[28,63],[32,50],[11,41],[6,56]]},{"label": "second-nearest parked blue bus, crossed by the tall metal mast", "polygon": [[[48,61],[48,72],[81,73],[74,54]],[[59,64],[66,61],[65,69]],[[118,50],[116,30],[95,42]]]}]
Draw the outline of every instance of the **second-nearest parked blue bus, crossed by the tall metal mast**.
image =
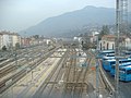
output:
[{"label": "second-nearest parked blue bus, crossed by the tall metal mast", "polygon": [[[127,60],[127,62],[122,62],[119,64],[119,68],[120,66],[128,66],[128,65],[131,65],[131,60]],[[116,64],[112,64],[111,65],[111,70],[110,70],[110,75],[111,76],[115,76],[115,73],[116,73],[116,69],[115,69]]]}]

